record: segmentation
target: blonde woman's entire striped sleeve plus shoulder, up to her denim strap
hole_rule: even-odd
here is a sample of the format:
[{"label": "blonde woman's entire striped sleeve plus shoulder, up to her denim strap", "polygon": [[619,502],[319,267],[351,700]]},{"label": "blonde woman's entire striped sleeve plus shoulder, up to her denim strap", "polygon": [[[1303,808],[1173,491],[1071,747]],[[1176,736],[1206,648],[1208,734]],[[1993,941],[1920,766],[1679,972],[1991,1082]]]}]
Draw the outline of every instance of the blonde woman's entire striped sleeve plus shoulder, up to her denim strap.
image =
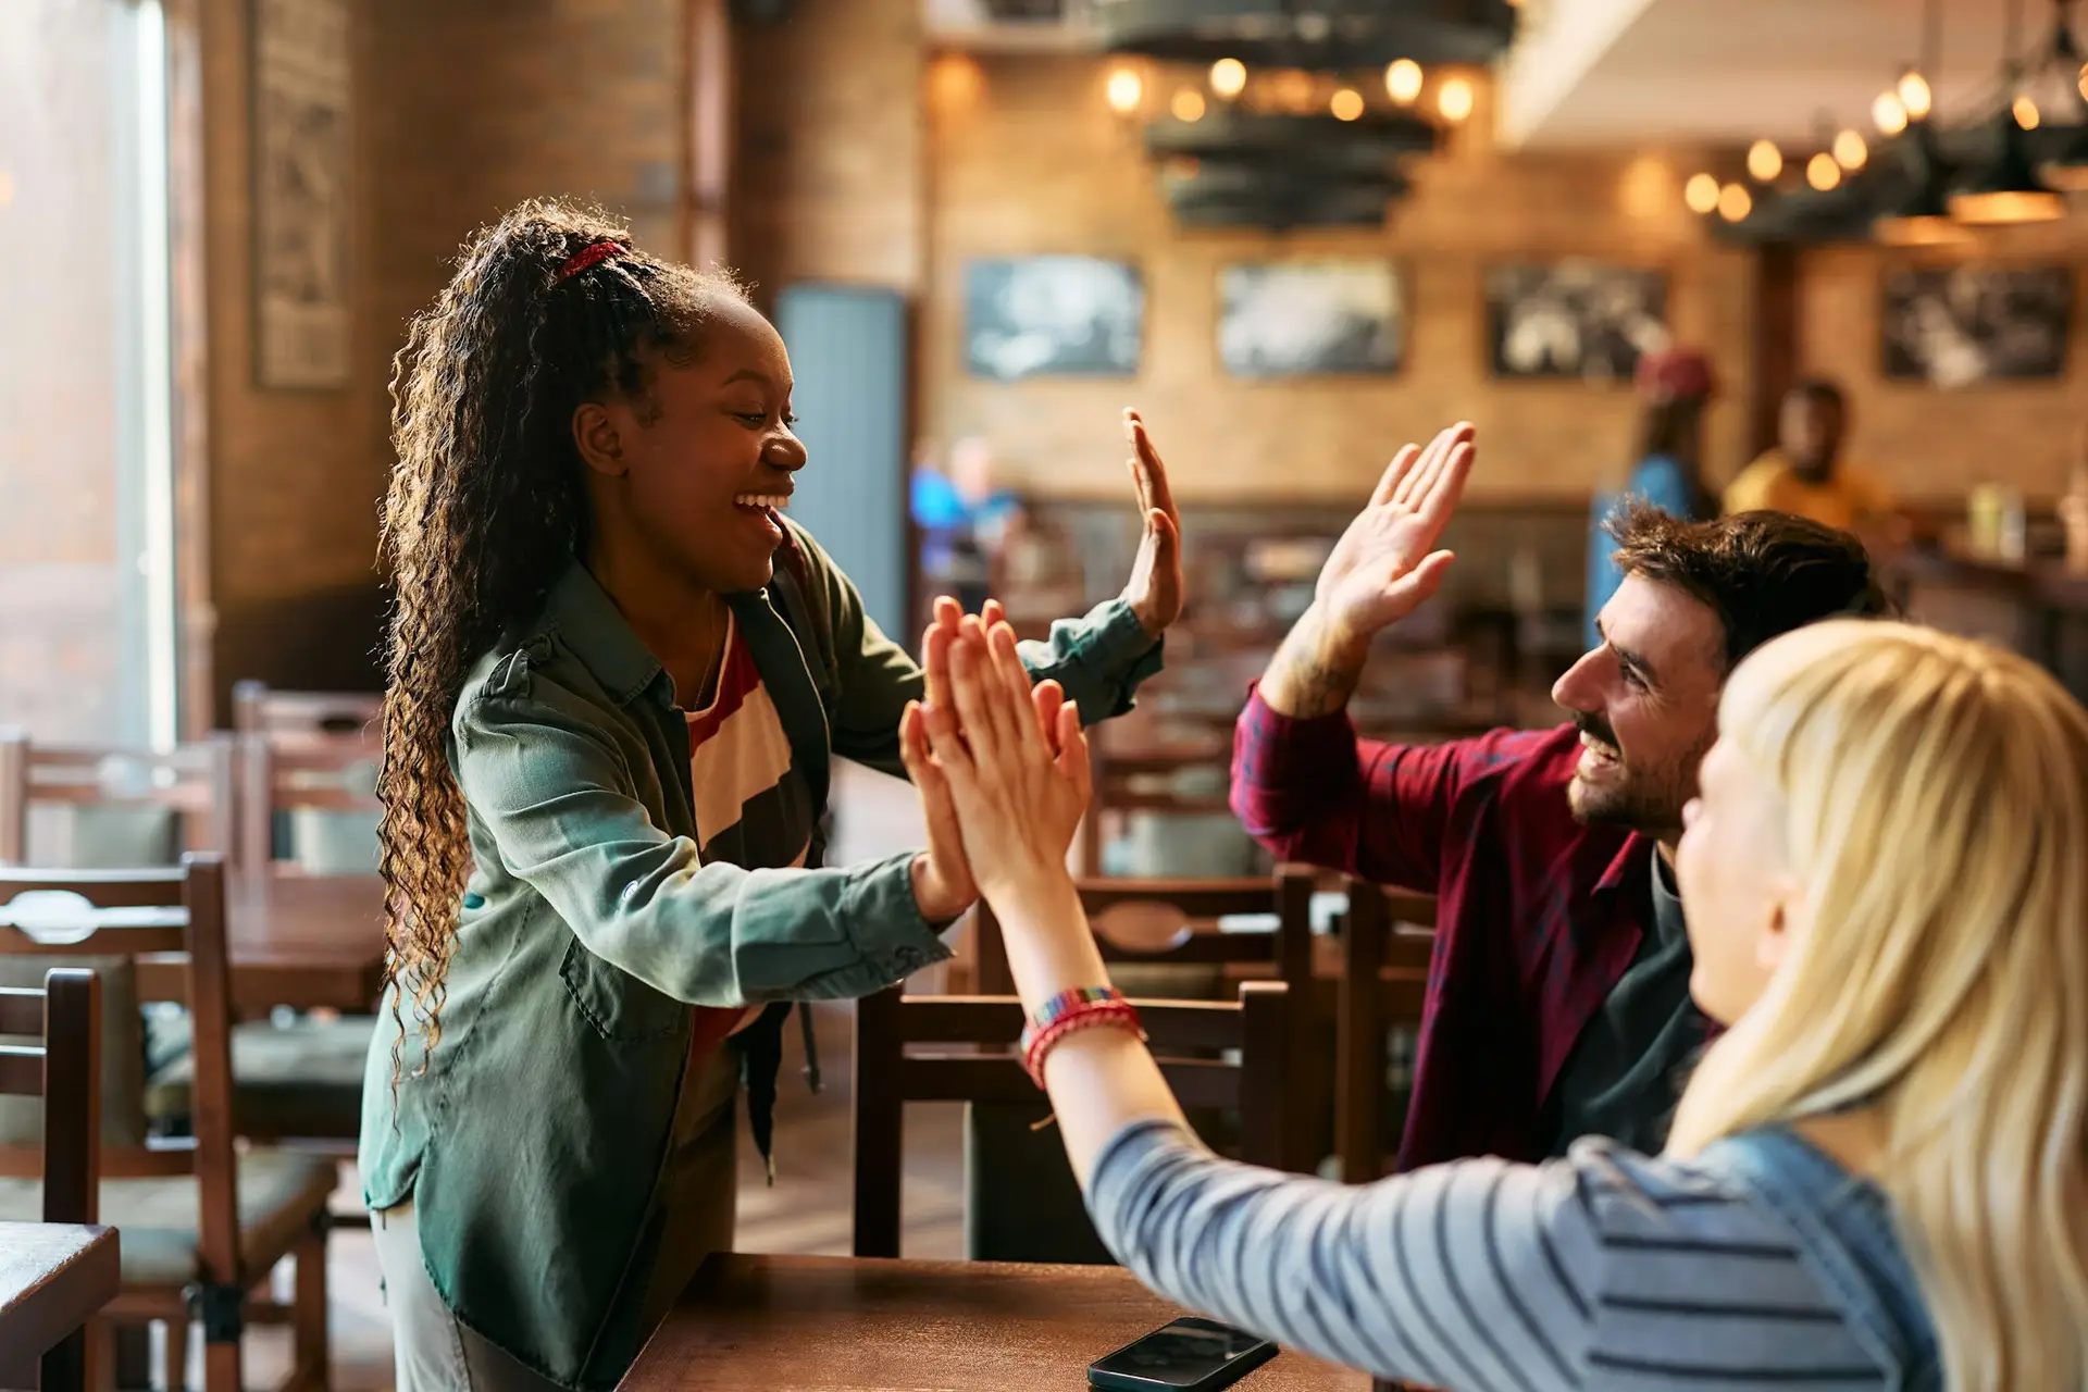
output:
[{"label": "blonde woman's entire striped sleeve plus shoulder, up to her denim strap", "polygon": [[1708,1171],[1581,1144],[1336,1185],[1111,1139],[1096,1231],[1153,1290],[1437,1388],[1883,1388],[1779,1221]]}]

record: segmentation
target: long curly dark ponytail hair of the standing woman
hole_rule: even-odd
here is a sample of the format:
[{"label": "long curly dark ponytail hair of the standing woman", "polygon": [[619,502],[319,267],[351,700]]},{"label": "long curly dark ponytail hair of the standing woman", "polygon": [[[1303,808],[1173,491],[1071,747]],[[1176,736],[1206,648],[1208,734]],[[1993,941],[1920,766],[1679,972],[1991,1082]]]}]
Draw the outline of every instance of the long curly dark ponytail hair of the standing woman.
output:
[{"label": "long curly dark ponytail hair of the standing woman", "polygon": [[[614,253],[580,250],[612,242]],[[603,394],[656,419],[656,359],[685,365],[731,273],[649,257],[593,207],[532,200],[482,227],[393,359],[382,561],[390,570],[378,829],[386,983],[403,1069],[407,1012],[422,1062],[443,1035],[443,981],[472,868],[449,718],[472,664],[535,614],[585,551],[585,467],[572,413]],[[405,1002],[411,998],[411,1006]]]}]

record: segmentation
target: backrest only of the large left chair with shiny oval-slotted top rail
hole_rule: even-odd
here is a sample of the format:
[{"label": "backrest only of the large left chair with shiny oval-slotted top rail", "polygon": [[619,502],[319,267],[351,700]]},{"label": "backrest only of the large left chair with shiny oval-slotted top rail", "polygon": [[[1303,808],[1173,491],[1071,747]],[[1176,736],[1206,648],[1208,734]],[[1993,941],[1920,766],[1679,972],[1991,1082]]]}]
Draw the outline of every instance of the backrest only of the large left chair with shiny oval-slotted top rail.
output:
[{"label": "backrest only of the large left chair with shiny oval-slotted top rail", "polygon": [[[100,1146],[109,1179],[194,1175],[205,1281],[238,1277],[238,1194],[232,1117],[232,991],[226,954],[223,860],[188,854],[171,870],[0,868],[0,956],[186,958],[194,1037],[194,1135],[167,1144]],[[102,1077],[115,1073],[106,1054]],[[40,1148],[0,1144],[0,1175],[42,1173]]]}]

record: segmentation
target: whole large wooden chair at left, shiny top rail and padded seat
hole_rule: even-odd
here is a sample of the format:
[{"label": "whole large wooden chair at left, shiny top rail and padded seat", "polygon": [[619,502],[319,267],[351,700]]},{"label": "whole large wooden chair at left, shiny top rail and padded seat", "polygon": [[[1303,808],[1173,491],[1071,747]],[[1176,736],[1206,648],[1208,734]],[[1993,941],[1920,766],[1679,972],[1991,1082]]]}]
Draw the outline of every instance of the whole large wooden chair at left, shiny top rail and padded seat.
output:
[{"label": "whole large wooden chair at left, shiny top rail and padded seat", "polygon": [[[165,1321],[169,1369],[186,1365],[188,1327],[200,1321],[207,1392],[238,1392],[248,1319],[288,1321],[296,1361],[286,1386],[326,1388],[326,1200],[338,1175],[319,1156],[234,1146],[223,906],[217,856],[190,854],[177,870],[0,870],[0,968],[10,956],[35,966],[90,958],[102,973],[100,1217],[123,1231],[123,1290],[104,1319]],[[140,954],[186,958],[194,1137],[175,1144],[144,1137]],[[10,1175],[0,1179],[0,1217],[42,1206],[38,1173],[35,1148],[0,1144],[0,1175]],[[288,1306],[257,1294],[284,1256],[296,1263]]]}]

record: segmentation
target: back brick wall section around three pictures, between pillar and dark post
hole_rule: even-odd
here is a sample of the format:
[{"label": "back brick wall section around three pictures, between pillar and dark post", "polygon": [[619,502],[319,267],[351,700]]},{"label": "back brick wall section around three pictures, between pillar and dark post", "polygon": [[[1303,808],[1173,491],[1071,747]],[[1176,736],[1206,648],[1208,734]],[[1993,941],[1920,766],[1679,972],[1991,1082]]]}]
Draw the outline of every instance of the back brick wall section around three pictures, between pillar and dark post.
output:
[{"label": "back brick wall section around three pictures, between pillar and dark post", "polygon": [[[1704,242],[1668,165],[1520,161],[1460,138],[1449,154],[1418,167],[1416,192],[1384,232],[1180,232],[1136,127],[1100,98],[1105,71],[1092,58],[986,61],[979,81],[950,83],[965,100],[931,104],[923,424],[940,440],[988,436],[1015,478],[1057,493],[1121,490],[1115,415],[1138,405],[1190,497],[1361,497],[1403,440],[1457,417],[1480,426],[1474,495],[1585,495],[1622,474],[1631,392],[1489,380],[1480,278],[1495,259],[1570,253],[1662,265],[1677,332],[1725,363],[1746,361],[1750,261]],[[1140,265],[1140,376],[1025,384],[965,376],[965,261],[1073,250]],[[1309,255],[1401,265],[1407,346],[1397,376],[1249,382],[1224,374],[1219,267]],[[1743,445],[1735,405],[1729,397],[1712,419],[1710,463],[1721,476],[1737,467]]]}]

